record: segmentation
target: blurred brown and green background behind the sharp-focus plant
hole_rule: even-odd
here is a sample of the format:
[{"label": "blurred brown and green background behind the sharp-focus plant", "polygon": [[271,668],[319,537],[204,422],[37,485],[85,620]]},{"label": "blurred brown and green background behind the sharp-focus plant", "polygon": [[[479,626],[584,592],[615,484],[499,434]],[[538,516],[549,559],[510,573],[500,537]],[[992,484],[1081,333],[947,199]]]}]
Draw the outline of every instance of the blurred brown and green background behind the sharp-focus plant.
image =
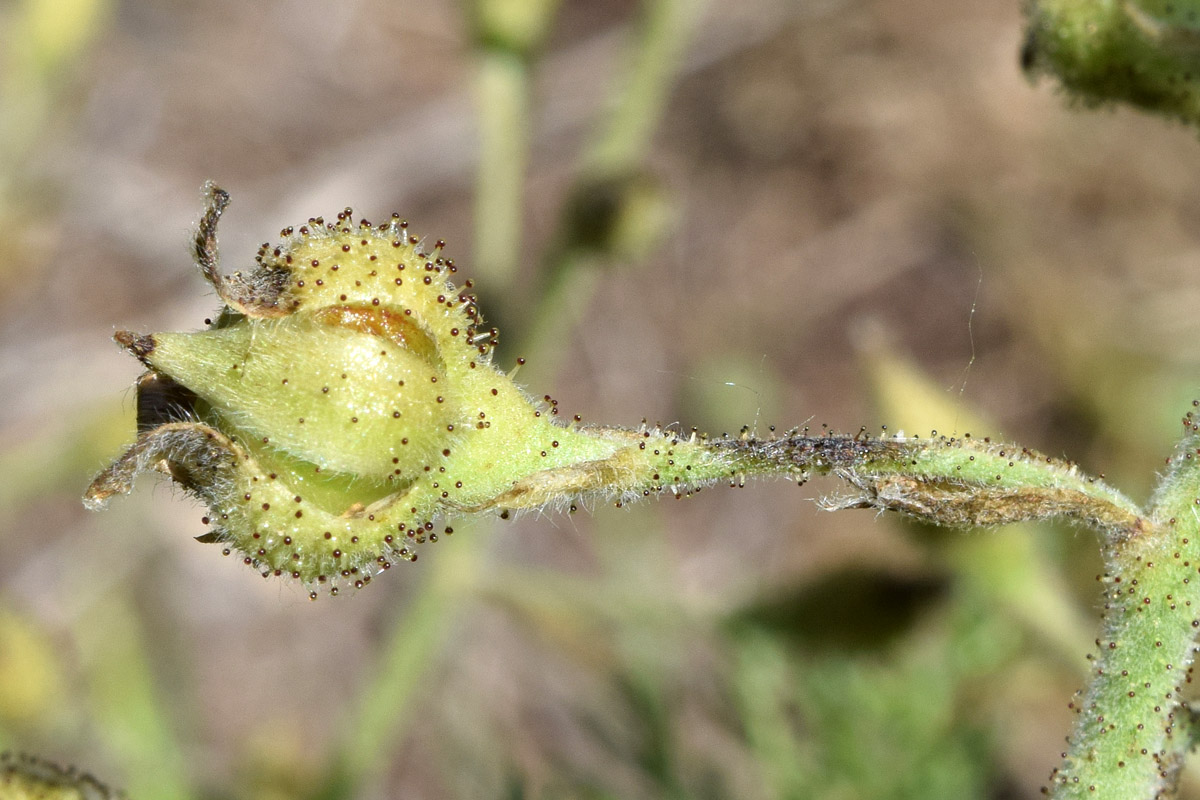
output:
[{"label": "blurred brown and green background behind the sharp-focus plant", "polygon": [[145,800],[1036,796],[1093,638],[1086,531],[761,483],[464,527],[312,603],[192,541],[166,483],[80,506],[132,438],[112,332],[214,311],[210,178],[230,271],[347,204],[445,237],[565,415],[970,426],[1145,498],[1200,383],[1193,132],[1027,83],[1016,0],[545,13],[522,168],[481,150],[511,53],[467,2],[0,5],[0,750]]}]

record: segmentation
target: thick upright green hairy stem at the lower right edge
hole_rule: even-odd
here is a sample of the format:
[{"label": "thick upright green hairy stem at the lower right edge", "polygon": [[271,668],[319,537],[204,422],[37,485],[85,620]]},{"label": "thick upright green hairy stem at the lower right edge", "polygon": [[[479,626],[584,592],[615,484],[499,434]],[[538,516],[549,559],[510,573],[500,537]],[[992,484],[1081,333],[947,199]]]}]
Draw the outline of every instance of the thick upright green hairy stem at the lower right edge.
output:
[{"label": "thick upright green hairy stem at the lower right edge", "polygon": [[1200,631],[1200,435],[1192,414],[1142,535],[1105,548],[1104,630],[1055,798],[1158,798],[1194,744],[1181,704]]}]

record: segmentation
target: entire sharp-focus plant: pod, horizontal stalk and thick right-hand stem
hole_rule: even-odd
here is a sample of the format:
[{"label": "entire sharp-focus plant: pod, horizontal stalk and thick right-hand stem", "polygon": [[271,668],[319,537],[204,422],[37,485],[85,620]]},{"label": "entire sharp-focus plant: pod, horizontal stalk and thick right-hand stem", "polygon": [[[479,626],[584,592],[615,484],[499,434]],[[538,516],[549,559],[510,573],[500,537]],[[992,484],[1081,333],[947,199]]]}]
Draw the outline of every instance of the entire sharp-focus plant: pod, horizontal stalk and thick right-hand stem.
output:
[{"label": "entire sharp-focus plant: pod, horizontal stalk and thick right-hand stem", "polygon": [[1074,464],[989,439],[564,423],[548,396],[530,399],[492,363],[496,331],[470,282],[454,283],[440,241],[426,251],[398,217],[372,225],[346,210],[286,229],[252,272],[226,276],[216,224],[228,196],[206,192],[194,254],[223,308],[199,332],[116,333],[149,371],[137,440],[95,479],[89,507],[143,470],[166,473],[209,506],[200,541],[314,597],[415,560],[455,516],[678,498],[755,475],[830,474],[848,491],[829,509],[943,525],[1068,518],[1102,536],[1106,616],[1052,792],[1126,799],[1174,786],[1195,733],[1180,697],[1200,630],[1192,415],[1148,511]]}]

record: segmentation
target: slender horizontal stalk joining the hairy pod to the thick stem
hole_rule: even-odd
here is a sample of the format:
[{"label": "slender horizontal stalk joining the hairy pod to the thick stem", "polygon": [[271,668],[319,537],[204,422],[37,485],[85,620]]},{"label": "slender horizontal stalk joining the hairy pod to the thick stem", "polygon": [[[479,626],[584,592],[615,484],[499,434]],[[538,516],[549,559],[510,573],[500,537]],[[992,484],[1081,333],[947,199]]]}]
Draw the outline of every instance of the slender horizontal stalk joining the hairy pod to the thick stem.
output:
[{"label": "slender horizontal stalk joining the hairy pod to the thick stem", "polygon": [[[547,495],[550,487],[679,494],[722,479],[740,485],[752,475],[802,482],[811,475],[834,475],[853,491],[826,501],[830,510],[872,507],[958,527],[1067,517],[1099,529],[1109,542],[1138,537],[1146,525],[1135,504],[1074,464],[986,439],[793,432],[767,439],[744,434],[709,440],[658,428],[581,432],[624,446],[606,458],[571,464],[569,470],[535,474],[518,482],[516,493],[538,486],[539,497]],[[635,444],[640,452],[634,452]],[[522,488],[526,485],[528,489]],[[498,498],[493,505],[528,507],[509,506],[510,499]]]}]

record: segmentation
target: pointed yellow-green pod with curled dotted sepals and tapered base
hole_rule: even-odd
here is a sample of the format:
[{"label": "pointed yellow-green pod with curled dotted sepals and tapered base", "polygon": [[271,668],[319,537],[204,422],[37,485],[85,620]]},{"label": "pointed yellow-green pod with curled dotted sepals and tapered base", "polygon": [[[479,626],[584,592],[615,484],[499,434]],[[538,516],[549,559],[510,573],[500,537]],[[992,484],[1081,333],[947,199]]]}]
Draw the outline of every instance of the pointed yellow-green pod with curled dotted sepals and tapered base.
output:
[{"label": "pointed yellow-green pod with curled dotted sepals and tapered base", "polygon": [[442,242],[426,252],[398,217],[310,219],[252,273],[222,276],[228,198],[208,191],[196,255],[226,307],[204,331],[116,335],[150,372],[138,440],[90,507],[156,468],[209,505],[203,541],[264,576],[362,585],[415,559],[437,516],[640,497],[719,465],[671,434],[563,426],[532,403],[492,366],[470,282],[456,287]]}]

